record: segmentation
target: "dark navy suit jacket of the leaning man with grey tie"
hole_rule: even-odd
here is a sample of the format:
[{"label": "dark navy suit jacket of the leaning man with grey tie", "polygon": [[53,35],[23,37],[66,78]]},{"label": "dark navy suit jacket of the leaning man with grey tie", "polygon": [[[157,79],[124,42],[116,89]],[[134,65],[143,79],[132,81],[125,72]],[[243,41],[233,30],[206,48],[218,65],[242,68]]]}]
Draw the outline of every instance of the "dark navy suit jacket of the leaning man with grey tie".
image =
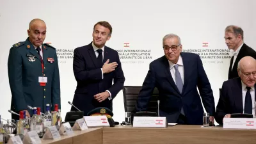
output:
[{"label": "dark navy suit jacket of the leaning man with grey tie", "polygon": [[[184,86],[179,92],[170,73],[165,56],[150,63],[143,88],[138,95],[137,111],[147,111],[148,101],[155,87],[159,90],[159,115],[166,116],[168,122],[177,122],[183,107],[188,124],[202,124],[204,107],[210,115],[215,112],[211,84],[205,74],[202,61],[197,54],[181,52],[184,65]],[[198,94],[198,90],[200,95]]]}]

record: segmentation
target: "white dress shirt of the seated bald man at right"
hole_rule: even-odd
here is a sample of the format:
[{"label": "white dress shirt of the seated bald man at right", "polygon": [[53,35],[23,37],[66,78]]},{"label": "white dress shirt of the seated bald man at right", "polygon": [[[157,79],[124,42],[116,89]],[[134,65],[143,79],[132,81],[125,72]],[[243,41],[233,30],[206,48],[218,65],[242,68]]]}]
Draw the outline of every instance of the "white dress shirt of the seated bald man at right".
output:
[{"label": "white dress shirt of the seated bald man at right", "polygon": [[[245,103],[245,95],[246,95],[247,89],[246,89],[246,85],[243,83],[243,81],[241,81],[241,83],[242,83],[242,92],[243,92],[243,113],[244,113],[244,103]],[[250,93],[251,93],[251,97],[252,97],[252,115],[254,118],[255,117],[255,88],[254,88],[254,86],[251,87]]]}]

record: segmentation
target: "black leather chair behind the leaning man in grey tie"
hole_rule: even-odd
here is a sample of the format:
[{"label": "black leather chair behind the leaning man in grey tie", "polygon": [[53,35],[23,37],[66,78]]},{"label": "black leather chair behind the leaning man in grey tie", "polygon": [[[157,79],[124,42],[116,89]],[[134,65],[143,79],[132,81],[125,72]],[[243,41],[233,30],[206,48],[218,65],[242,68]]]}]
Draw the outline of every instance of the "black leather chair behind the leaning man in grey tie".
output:
[{"label": "black leather chair behind the leaning man in grey tie", "polygon": [[[142,86],[124,86],[123,96],[124,96],[124,109],[125,112],[136,112],[136,105],[138,100],[138,94],[140,93]],[[152,97],[148,102],[147,111],[152,111],[157,113],[157,100],[159,97],[159,92],[157,88],[154,89]]]}]

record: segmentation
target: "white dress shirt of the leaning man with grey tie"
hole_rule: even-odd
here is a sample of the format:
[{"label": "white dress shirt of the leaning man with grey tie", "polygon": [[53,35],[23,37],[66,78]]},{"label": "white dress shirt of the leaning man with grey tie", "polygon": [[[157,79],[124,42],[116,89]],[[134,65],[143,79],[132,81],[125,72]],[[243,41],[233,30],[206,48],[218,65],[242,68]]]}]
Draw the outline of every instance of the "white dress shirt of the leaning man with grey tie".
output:
[{"label": "white dress shirt of the leaning man with grey tie", "polygon": [[182,79],[182,83],[184,84],[184,67],[183,67],[183,61],[182,61],[181,56],[179,56],[179,60],[176,64],[172,63],[172,61],[169,61],[169,65],[170,65],[170,72],[171,72],[171,75],[172,75],[172,78],[173,78],[173,81],[174,81],[175,84],[176,84],[176,81],[175,81],[175,72],[176,72],[176,70],[175,70],[174,66],[179,65],[178,69],[179,69],[179,72],[180,72],[180,77]]}]

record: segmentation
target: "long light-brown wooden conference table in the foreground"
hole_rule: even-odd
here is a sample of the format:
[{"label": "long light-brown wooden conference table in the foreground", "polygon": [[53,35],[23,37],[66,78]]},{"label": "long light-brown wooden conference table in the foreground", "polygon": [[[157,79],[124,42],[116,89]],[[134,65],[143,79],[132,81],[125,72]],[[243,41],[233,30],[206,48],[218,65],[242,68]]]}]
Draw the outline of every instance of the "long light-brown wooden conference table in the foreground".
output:
[{"label": "long light-brown wooden conference table in the foreground", "polygon": [[42,140],[43,144],[114,144],[114,143],[256,143],[256,130],[175,125],[167,128],[140,128],[132,126],[99,127],[74,131],[72,136],[58,140]]}]

